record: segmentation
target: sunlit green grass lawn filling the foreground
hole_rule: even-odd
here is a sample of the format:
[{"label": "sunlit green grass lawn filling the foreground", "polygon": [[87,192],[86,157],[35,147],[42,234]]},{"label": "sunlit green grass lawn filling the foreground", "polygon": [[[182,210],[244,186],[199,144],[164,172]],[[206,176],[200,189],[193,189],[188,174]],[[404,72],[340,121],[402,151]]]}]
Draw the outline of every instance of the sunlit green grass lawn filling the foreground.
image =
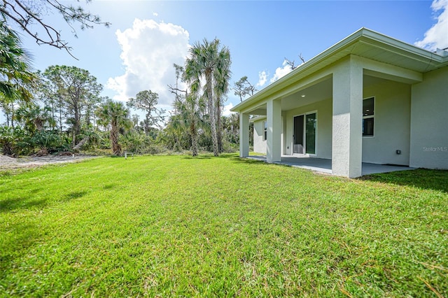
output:
[{"label": "sunlit green grass lawn filling the foreground", "polygon": [[223,157],[0,176],[0,297],[448,297],[448,171]]}]

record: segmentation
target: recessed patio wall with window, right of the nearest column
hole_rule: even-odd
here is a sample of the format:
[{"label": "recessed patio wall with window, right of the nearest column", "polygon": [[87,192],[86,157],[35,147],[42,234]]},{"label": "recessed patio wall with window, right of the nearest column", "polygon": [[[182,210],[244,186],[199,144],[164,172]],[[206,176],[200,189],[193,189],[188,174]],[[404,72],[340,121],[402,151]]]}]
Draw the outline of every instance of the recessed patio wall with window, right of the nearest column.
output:
[{"label": "recessed patio wall with window, right of the nearest column", "polygon": [[363,98],[370,97],[374,97],[374,136],[363,137],[363,162],[409,165],[411,86],[379,80],[363,90]]}]

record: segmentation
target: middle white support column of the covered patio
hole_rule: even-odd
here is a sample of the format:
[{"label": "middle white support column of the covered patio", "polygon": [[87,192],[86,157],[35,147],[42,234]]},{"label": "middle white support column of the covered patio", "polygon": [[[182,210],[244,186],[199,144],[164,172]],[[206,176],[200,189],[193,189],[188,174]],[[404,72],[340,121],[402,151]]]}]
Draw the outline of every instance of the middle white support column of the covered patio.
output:
[{"label": "middle white support column of the covered patio", "polygon": [[281,101],[267,101],[267,162],[281,161]]}]

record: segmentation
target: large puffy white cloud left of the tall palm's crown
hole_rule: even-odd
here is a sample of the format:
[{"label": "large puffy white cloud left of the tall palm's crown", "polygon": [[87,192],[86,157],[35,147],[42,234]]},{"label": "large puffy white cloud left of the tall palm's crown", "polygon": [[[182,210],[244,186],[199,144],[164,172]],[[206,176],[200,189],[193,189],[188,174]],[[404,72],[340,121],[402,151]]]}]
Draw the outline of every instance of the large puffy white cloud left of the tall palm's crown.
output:
[{"label": "large puffy white cloud left of the tall palm's crown", "polygon": [[106,87],[115,90],[116,100],[126,101],[142,90],[159,94],[159,105],[169,106],[173,96],[167,85],[174,84],[173,64],[183,64],[190,45],[189,34],[181,26],[135,19],[132,28],[116,31],[125,66],[123,76],[109,78]]}]

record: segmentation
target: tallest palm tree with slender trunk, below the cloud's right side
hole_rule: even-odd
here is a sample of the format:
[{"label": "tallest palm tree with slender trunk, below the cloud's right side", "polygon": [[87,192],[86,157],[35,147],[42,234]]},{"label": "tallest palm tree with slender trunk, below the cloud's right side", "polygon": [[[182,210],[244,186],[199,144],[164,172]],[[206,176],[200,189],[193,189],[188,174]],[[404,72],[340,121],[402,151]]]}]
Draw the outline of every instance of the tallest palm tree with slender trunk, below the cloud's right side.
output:
[{"label": "tallest palm tree with slender trunk, below the cloud's right side", "polygon": [[[190,57],[186,60],[184,78],[190,84],[191,92],[196,97],[204,89],[215,156],[219,155],[218,134],[216,132],[217,101],[219,99],[221,102],[221,96],[225,93],[225,86],[228,86],[228,83],[223,83],[223,80],[228,80],[229,76],[230,52],[228,48],[221,47],[218,39],[215,38],[211,42],[204,39],[202,44],[197,42],[190,48]],[[202,86],[201,80],[205,80],[204,86]],[[217,90],[221,90],[222,93],[221,91],[217,93]]]}]

